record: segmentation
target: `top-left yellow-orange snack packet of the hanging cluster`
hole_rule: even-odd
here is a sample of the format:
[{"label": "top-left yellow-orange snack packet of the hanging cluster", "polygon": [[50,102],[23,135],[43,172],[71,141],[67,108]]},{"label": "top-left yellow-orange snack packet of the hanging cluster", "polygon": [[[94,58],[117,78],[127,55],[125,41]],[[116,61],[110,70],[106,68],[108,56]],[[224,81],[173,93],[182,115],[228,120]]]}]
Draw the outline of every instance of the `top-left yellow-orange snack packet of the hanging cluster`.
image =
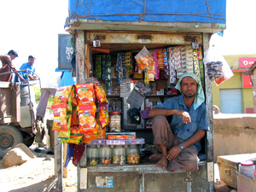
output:
[{"label": "top-left yellow-orange snack packet of the hanging cluster", "polygon": [[73,88],[73,85],[59,87],[55,93],[55,99],[54,99],[53,105],[67,103],[67,99],[71,93],[72,88]]}]

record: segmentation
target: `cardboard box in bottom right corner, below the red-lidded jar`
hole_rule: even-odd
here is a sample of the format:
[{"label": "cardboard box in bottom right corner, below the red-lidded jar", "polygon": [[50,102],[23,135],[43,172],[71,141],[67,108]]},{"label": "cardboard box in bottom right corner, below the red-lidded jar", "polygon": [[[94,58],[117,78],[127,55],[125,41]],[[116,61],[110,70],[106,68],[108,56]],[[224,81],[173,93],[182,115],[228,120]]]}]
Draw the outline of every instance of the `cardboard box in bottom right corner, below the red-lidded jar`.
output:
[{"label": "cardboard box in bottom right corner, below the red-lidded jar", "polygon": [[256,191],[256,180],[241,175],[236,172],[237,175],[237,191],[242,192],[255,192]]}]

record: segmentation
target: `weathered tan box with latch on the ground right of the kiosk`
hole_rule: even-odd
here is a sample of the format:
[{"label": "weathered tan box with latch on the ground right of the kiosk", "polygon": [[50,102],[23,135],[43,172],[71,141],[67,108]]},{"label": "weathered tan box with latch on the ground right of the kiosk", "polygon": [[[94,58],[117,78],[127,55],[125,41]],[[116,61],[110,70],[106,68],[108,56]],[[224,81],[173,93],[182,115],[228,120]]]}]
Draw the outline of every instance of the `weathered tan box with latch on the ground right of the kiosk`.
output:
[{"label": "weathered tan box with latch on the ground right of the kiosk", "polygon": [[218,156],[217,164],[220,179],[230,187],[237,189],[236,172],[238,172],[239,164],[244,160],[252,160],[253,164],[256,165],[256,153]]}]

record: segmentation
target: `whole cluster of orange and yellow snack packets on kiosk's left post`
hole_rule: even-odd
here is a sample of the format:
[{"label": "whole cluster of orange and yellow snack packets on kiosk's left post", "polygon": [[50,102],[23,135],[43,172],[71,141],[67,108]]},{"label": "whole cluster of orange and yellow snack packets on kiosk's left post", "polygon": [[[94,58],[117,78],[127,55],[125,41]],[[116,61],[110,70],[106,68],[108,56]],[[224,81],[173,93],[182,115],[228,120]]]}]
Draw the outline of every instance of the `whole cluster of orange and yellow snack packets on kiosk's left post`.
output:
[{"label": "whole cluster of orange and yellow snack packets on kiosk's left post", "polygon": [[59,87],[52,105],[52,130],[59,131],[59,138],[65,143],[90,143],[106,138],[107,104],[106,93],[95,80]]}]

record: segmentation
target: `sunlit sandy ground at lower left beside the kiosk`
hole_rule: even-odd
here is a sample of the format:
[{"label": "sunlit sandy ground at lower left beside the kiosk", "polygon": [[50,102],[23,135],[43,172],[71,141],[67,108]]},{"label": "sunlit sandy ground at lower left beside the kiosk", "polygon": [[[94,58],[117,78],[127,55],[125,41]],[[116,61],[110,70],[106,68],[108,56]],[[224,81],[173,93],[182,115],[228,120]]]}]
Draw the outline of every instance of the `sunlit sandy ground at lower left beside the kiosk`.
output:
[{"label": "sunlit sandy ground at lower left beside the kiosk", "polygon": [[[47,158],[46,158],[47,157]],[[0,161],[0,191],[58,191],[56,190],[54,155],[37,154],[21,166],[4,167]],[[63,191],[77,191],[77,167],[72,160],[67,166],[67,178],[62,180]]]}]

